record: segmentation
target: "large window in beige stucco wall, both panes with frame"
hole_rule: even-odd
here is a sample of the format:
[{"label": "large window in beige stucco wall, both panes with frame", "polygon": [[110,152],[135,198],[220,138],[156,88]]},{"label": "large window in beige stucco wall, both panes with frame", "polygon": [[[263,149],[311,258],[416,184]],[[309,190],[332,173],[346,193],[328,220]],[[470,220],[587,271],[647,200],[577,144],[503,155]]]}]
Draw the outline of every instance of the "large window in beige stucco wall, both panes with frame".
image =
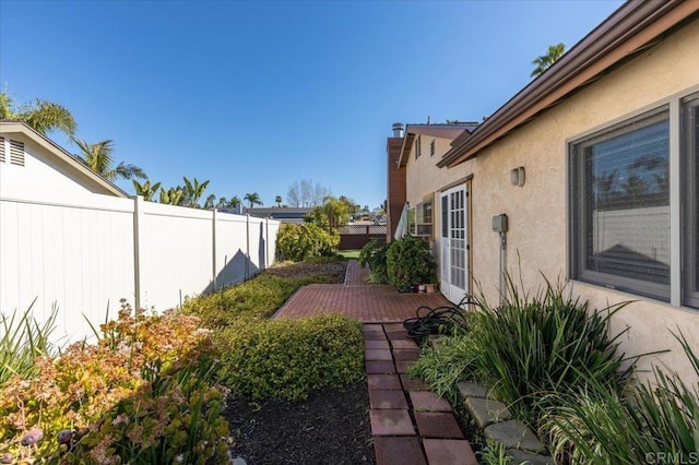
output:
[{"label": "large window in beige stucco wall, both panes with frame", "polygon": [[699,94],[570,144],[571,277],[699,308]]}]

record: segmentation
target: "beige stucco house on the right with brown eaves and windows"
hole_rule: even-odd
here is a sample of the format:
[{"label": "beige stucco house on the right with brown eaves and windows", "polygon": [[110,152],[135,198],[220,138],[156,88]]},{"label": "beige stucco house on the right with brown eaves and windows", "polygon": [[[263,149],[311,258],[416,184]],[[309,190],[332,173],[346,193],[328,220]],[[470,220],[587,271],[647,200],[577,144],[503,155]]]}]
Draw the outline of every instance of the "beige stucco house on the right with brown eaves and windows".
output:
[{"label": "beige stucco house on the right with brown eaves and windows", "polygon": [[410,160],[442,291],[497,301],[505,269],[597,308],[633,300],[613,319],[626,353],[672,349],[644,363],[694,378],[671,331],[699,353],[698,57],[699,2],[627,2],[443,155]]}]

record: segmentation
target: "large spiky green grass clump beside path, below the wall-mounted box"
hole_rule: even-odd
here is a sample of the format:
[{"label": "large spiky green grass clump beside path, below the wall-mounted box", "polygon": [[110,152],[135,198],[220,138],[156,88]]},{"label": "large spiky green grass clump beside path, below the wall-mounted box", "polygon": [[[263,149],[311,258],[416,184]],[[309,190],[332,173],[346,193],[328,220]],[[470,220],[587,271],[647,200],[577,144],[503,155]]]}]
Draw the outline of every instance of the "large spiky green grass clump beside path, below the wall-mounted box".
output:
[{"label": "large spiky green grass clump beside path, below the wall-mounted box", "polygon": [[608,323],[628,302],[593,310],[560,283],[546,281],[533,297],[508,283],[501,305],[476,299],[471,335],[477,377],[502,402],[535,428],[546,404],[590,380],[614,392],[626,388],[638,357],[619,353],[628,330],[611,336]]}]

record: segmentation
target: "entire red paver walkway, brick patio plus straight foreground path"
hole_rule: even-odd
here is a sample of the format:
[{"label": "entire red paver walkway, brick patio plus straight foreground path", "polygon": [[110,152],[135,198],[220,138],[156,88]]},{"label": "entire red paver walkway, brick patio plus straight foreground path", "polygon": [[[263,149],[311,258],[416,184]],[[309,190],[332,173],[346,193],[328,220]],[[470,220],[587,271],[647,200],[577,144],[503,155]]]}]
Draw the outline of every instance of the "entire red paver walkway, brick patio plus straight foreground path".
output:
[{"label": "entire red paver walkway, brick patio plus straight foreground path", "polygon": [[471,465],[475,455],[463,439],[449,403],[405,372],[419,357],[403,320],[420,306],[450,305],[440,294],[400,294],[366,284],[367,271],[350,261],[344,284],[300,288],[273,318],[341,313],[364,324],[369,419],[377,465]]}]

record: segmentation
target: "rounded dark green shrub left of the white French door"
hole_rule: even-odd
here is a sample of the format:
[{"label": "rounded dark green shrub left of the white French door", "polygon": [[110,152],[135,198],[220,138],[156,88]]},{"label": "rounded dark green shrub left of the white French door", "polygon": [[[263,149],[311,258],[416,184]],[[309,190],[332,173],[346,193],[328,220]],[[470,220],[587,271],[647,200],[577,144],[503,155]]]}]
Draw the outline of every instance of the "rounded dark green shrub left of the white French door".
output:
[{"label": "rounded dark green shrub left of the white French door", "polygon": [[429,243],[420,238],[405,236],[391,242],[386,263],[389,283],[399,290],[413,289],[418,284],[437,281]]}]

